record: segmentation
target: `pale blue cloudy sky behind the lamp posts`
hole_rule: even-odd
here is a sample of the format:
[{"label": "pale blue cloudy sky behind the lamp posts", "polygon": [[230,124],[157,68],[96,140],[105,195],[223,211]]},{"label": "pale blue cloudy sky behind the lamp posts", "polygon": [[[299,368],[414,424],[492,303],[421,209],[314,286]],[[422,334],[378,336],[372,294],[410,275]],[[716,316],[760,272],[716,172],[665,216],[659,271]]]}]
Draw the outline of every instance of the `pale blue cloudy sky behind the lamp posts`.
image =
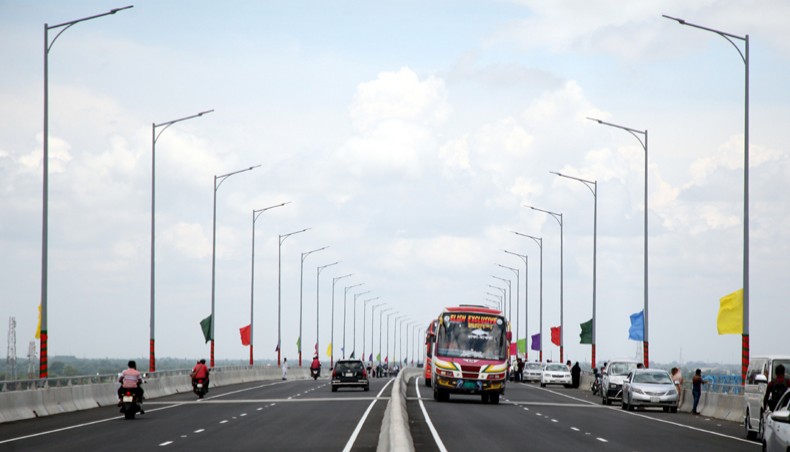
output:
[{"label": "pale blue cloudy sky behind the lamp posts", "polygon": [[[0,0],[0,346],[15,317],[18,356],[41,302],[44,24],[125,5]],[[593,117],[648,131],[651,360],[738,363],[716,316],[743,286],[744,64],[662,14],[749,35],[751,354],[787,353],[787,2],[143,0],[49,52],[49,355],[148,355],[152,126],[213,109],[156,142],[158,357],[208,358],[215,193],[217,359],[247,359],[252,302],[255,358],[276,358],[279,318],[293,362],[300,287],[303,353],[318,328],[323,359],[330,342],[342,355],[345,295],[359,356],[371,306],[376,353],[384,309],[413,347],[443,307],[491,303],[495,276],[514,335],[542,318],[544,359],[559,359],[562,291],[566,359],[588,361],[596,204],[597,357],[635,357],[645,151]],[[253,250],[253,210],[286,202],[260,214]],[[558,222],[525,205],[563,214],[562,258]],[[514,231],[542,238],[542,264]]]}]

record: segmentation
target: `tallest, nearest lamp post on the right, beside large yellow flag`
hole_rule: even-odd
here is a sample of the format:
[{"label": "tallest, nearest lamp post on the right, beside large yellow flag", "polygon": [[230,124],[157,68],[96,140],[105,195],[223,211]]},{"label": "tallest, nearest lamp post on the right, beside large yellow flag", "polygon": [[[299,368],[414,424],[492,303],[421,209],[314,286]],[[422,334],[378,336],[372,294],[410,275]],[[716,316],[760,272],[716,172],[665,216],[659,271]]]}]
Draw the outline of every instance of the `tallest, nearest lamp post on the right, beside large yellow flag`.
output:
[{"label": "tallest, nearest lamp post on the right, beside large yellow flag", "polygon": [[[738,36],[725,33],[713,28],[703,27],[686,22],[683,19],[664,15],[667,19],[676,21],[681,25],[698,28],[700,30],[716,33],[726,39],[738,54],[744,64],[744,108],[743,108],[743,333],[741,335],[741,384],[746,381],[746,370],[749,366],[749,35]],[[744,50],[741,52],[733,39],[743,41]],[[647,138],[645,138],[647,141]],[[647,210],[647,209],[645,209]],[[647,318],[647,313],[645,313]],[[645,320],[645,340],[647,340],[647,320]]]}]

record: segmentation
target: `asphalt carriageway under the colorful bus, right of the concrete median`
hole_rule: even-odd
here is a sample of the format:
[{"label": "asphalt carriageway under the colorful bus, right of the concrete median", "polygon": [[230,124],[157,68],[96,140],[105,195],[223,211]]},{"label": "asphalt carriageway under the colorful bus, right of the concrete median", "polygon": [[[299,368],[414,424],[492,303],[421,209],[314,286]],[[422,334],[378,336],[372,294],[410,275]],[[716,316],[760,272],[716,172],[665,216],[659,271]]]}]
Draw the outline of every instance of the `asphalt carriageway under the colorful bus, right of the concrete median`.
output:
[{"label": "asphalt carriageway under the colorful bus, right of the concrete median", "polygon": [[455,394],[435,402],[424,380],[412,378],[406,404],[418,451],[760,450],[735,422],[660,409],[628,412],[562,386],[510,383],[499,405],[483,405],[479,396]]}]

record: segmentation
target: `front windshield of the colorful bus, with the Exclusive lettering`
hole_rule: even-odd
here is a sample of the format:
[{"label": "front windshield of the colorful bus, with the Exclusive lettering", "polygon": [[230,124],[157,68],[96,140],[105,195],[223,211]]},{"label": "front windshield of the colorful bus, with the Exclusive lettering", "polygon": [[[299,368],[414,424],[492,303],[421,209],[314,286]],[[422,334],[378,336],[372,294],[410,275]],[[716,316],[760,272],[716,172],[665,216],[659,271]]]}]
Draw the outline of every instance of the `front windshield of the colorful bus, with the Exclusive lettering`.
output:
[{"label": "front windshield of the colorful bus, with the Exclusive lettering", "polygon": [[507,359],[507,322],[501,316],[444,314],[436,336],[436,352],[451,358]]}]

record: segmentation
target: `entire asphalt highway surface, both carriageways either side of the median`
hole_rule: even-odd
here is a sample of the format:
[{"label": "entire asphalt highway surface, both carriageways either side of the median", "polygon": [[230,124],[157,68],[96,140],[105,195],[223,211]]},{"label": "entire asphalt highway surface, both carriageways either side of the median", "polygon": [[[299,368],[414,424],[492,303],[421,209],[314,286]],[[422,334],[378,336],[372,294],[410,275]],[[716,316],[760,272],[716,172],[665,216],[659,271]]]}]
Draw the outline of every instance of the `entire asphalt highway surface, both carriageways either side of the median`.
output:
[{"label": "entire asphalt highway surface, both carriageways either side of the median", "polygon": [[[603,406],[589,391],[510,383],[499,405],[451,395],[435,402],[421,378],[406,392],[417,451],[757,451],[738,423]],[[0,424],[0,451],[373,451],[391,379],[369,392],[330,391],[329,381],[261,381],[146,402],[124,420],[115,407]]]}]

